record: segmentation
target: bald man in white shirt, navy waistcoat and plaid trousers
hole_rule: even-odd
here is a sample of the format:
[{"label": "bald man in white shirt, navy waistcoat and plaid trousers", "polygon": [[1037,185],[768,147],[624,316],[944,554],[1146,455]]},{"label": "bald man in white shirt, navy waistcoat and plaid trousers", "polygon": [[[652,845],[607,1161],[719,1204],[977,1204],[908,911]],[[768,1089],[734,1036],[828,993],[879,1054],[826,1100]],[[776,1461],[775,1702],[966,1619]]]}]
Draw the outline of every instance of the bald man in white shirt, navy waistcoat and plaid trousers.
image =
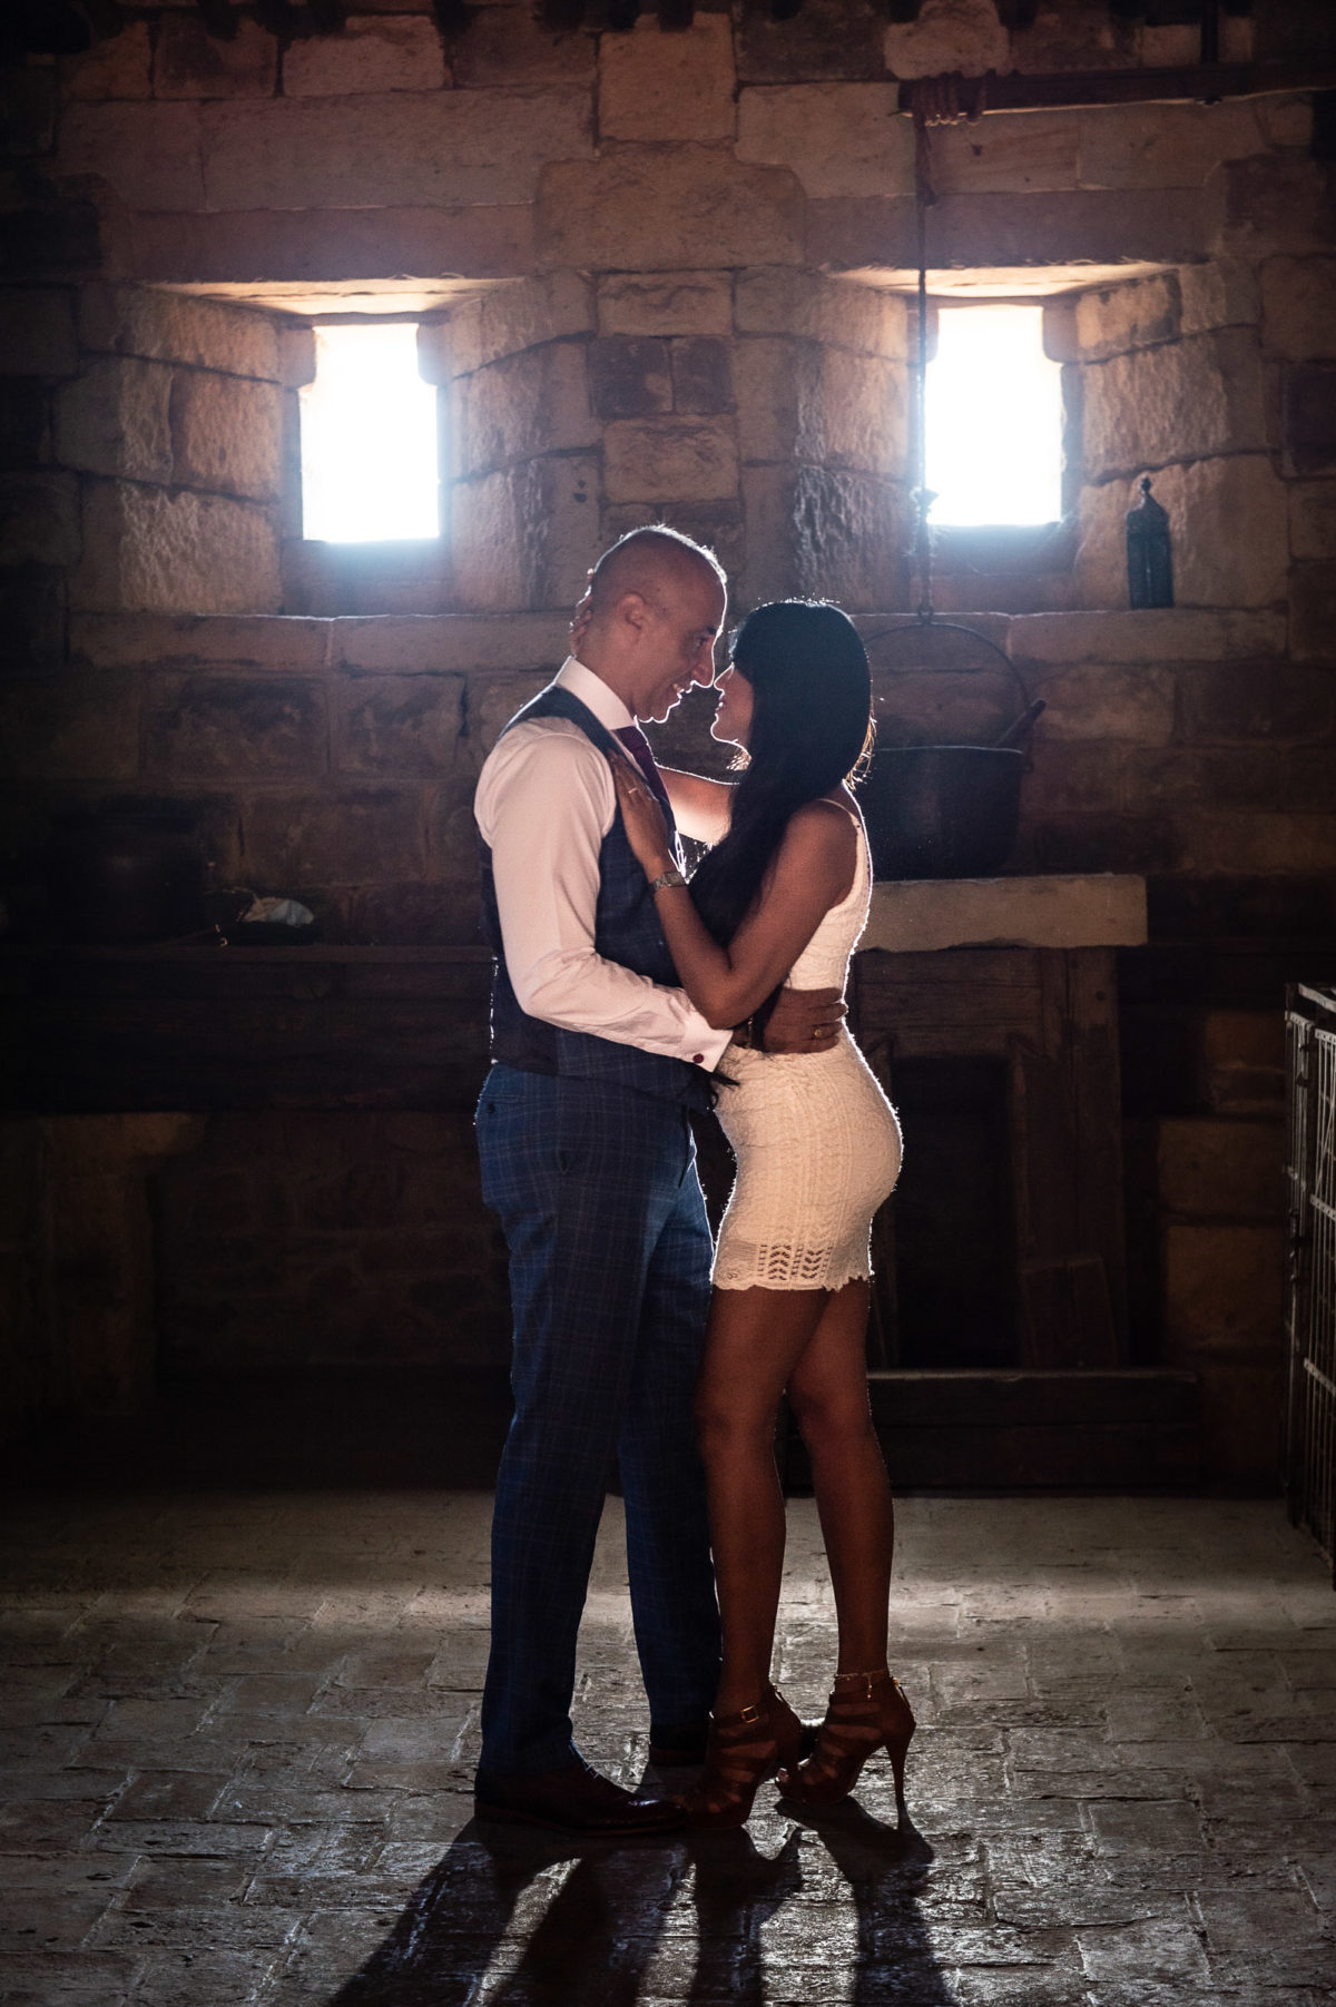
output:
[{"label": "bald man in white shirt, navy waistcoat and plaid trousers", "polygon": [[[477,1810],[574,1832],[680,1812],[592,1770],[572,1738],[576,1634],[620,1463],[650,1754],[698,1760],[718,1610],[692,1427],[710,1234],[690,1112],[730,1034],[680,987],[616,813],[610,759],[662,779],[636,719],[714,676],[716,560],[634,530],[594,568],[580,658],[506,727],[475,797],[497,955],[477,1104],[483,1198],[510,1244],[516,1415],[491,1529],[491,1660]],[[786,993],[772,1050],[820,1052],[832,991]]]}]

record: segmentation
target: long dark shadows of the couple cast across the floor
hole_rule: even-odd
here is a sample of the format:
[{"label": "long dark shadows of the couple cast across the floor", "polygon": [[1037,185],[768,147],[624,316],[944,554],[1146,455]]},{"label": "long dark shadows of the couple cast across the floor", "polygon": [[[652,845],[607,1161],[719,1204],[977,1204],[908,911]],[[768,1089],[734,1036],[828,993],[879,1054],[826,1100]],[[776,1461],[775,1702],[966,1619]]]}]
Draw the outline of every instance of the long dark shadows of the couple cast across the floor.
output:
[{"label": "long dark shadows of the couple cast across the floor", "polygon": [[471,1820],[329,2007],[760,2007],[851,1961],[857,2007],[957,2007],[919,1913],[931,1858],[853,1804],[774,1856],[746,1830],[612,1846]]}]

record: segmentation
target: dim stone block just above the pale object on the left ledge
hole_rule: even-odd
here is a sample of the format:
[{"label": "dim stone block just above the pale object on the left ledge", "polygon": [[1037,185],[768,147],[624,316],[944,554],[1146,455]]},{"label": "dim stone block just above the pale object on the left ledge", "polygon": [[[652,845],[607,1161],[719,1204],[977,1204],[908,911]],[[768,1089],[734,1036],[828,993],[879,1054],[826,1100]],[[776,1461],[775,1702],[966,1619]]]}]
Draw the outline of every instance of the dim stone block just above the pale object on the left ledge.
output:
[{"label": "dim stone block just above the pale object on the left ledge", "polygon": [[357,885],[425,869],[421,785],[255,795],[241,827],[255,885]]}]

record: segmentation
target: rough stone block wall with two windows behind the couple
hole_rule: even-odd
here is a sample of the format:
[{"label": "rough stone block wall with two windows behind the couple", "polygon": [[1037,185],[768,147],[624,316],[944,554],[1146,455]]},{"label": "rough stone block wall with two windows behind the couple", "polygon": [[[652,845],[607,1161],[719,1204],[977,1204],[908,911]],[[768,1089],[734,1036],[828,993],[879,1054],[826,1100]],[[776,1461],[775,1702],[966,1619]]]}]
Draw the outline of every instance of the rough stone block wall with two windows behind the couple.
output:
[{"label": "rough stone block wall with two windows behind the couple", "polygon": [[[1224,32],[1232,60],[1334,40],[1288,6]],[[895,24],[863,0],[806,0],[790,22],[710,4],[686,34],[650,18],[560,34],[487,0],[445,40],[405,0],[285,40],[245,8],[219,40],[195,10],[150,6],[82,58],[12,72],[0,851],[16,919],[44,925],[52,809],[134,793],[189,801],[221,883],[297,893],[329,937],[473,941],[479,759],[560,658],[612,536],[666,516],[708,538],[738,604],[828,592],[867,632],[911,604],[897,80],[1194,54],[1188,24],[1081,0],[1015,30],[993,0],[925,0]],[[941,604],[987,616],[1049,706],[1013,869],[1149,877],[1151,949],[1123,965],[1137,1357],[1204,1367],[1214,1469],[1254,1479],[1280,1359],[1280,995],[1326,967],[1336,917],[1330,175],[1304,94],[933,134],[935,291],[1055,301],[1073,504],[1043,564],[967,558]],[[401,309],[413,287],[449,532],[425,564],[337,560],[297,536],[301,315],[377,289]],[[1165,614],[1125,610],[1141,472],[1174,522]],[[997,676],[883,680],[879,698],[893,741],[991,737],[1015,702]],[[662,747],[716,759],[700,700]],[[283,1274],[235,1268],[253,1286],[233,1278],[231,1323],[209,1323],[201,1278],[229,1258],[209,1192],[269,1152],[263,1120],[249,1142],[215,1126],[160,1174],[179,1357],[249,1363],[247,1321],[285,1359],[473,1357],[491,1311],[441,1307],[493,1260],[487,1228],[415,1266],[407,1214],[427,1200],[407,1130],[285,1130]],[[359,1224],[355,1194],[371,1210],[397,1194],[399,1218]],[[337,1329],[329,1276],[363,1305]]]}]

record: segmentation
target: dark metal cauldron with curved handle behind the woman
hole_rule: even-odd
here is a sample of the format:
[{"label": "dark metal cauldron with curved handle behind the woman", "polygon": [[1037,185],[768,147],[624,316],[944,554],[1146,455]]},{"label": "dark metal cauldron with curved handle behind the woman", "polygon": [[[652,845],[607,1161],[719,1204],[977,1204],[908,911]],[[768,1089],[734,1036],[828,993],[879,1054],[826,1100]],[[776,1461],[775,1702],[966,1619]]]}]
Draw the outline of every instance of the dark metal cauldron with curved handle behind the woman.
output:
[{"label": "dark metal cauldron with curved handle behind the woman", "polygon": [[[963,634],[989,650],[1021,696],[1021,716],[997,745],[879,747],[859,789],[879,879],[987,877],[1015,849],[1027,753],[1005,741],[1027,737],[1041,704],[1031,704],[1015,664],[985,634],[949,620],[905,622],[869,636],[877,668],[911,674],[929,664],[927,636]],[[887,662],[907,656],[905,666]],[[961,672],[961,664],[951,664]],[[975,664],[969,672],[975,672]]]}]

